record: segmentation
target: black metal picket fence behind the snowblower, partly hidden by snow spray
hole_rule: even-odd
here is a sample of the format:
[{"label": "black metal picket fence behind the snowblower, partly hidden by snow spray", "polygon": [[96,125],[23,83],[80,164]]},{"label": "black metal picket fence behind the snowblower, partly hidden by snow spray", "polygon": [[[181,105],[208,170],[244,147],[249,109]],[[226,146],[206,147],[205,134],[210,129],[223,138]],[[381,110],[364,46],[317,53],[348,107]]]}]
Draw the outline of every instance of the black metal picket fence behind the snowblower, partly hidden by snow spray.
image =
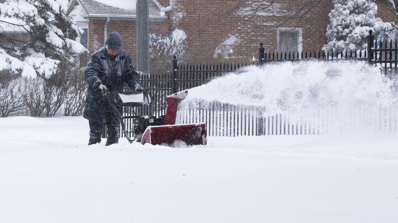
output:
[{"label": "black metal picket fence behind the snowblower, partly hidden by snow spray", "polygon": [[[175,92],[205,84],[215,77],[234,72],[246,66],[261,66],[267,63],[283,61],[322,60],[340,61],[355,60],[367,61],[375,65],[380,64],[385,75],[397,73],[397,41],[375,40],[372,32],[368,36],[368,49],[359,51],[341,52],[266,52],[263,44],[259,47],[259,60],[249,63],[222,63],[222,64],[185,64],[173,60],[173,70],[170,74],[143,74],[142,84],[152,93],[154,106],[151,110],[134,110],[136,114],[155,116],[165,115],[166,96]],[[130,108],[128,108],[130,109]],[[239,136],[239,135],[283,135],[283,134],[319,134],[315,126],[306,123],[289,123],[289,118],[283,114],[264,115],[265,108],[232,106],[226,104],[207,105],[198,109],[185,111],[181,116],[182,123],[205,122],[208,136]],[[133,111],[125,110],[126,115]],[[200,114],[200,115],[198,115]],[[282,124],[285,123],[285,124]],[[288,125],[286,124],[288,123]],[[130,124],[126,124],[130,128]],[[222,130],[223,129],[223,130]],[[396,127],[394,127],[396,129]],[[222,131],[221,131],[222,130]],[[283,130],[283,131],[282,131]]]}]

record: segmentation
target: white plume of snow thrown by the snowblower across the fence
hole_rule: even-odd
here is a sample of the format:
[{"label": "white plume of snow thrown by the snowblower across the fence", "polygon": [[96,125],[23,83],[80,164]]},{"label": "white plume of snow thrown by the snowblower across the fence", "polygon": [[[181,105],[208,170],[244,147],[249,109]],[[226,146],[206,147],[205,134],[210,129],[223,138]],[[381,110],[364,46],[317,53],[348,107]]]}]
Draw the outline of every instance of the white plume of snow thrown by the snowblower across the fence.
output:
[{"label": "white plume of snow thrown by the snowblower across the fence", "polygon": [[[248,124],[255,129],[240,135],[395,132],[397,104],[395,81],[379,67],[301,61],[246,67],[189,89],[179,114],[183,122],[206,122],[218,132]],[[245,115],[236,117],[236,108]],[[243,122],[243,116],[252,120]]]}]

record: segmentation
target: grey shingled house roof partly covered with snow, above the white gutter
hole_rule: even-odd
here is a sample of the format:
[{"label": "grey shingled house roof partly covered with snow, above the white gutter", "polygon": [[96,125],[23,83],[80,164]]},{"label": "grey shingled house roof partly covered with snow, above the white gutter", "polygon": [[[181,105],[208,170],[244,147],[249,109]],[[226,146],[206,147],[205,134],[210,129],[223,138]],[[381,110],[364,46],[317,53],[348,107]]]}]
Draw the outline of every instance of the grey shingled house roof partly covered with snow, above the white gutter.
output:
[{"label": "grey shingled house roof partly covered with snow, above the white gutter", "polygon": [[[119,8],[112,5],[101,3],[96,0],[78,0],[87,11],[87,18],[111,17],[111,18],[136,18],[135,8]],[[72,1],[73,4],[73,1]],[[166,18],[164,12],[160,11],[160,6],[153,0],[149,0],[149,18]]]}]

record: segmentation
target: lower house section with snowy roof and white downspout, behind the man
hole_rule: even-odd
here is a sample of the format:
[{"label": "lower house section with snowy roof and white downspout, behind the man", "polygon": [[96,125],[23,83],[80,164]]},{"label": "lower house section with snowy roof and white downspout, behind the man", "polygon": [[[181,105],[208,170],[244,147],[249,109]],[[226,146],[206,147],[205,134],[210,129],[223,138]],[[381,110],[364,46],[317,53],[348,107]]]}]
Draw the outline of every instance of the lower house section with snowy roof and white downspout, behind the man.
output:
[{"label": "lower house section with snowy roof and white downspout, behind the man", "polygon": [[[167,16],[161,12],[162,6],[152,0],[149,0],[149,3],[150,33],[167,35]],[[123,39],[123,50],[131,54],[134,62],[137,16],[135,7],[130,7],[131,9],[118,8],[96,0],[71,0],[68,13],[76,16],[75,21],[85,31],[80,37],[80,42],[89,49],[90,54],[103,46],[110,32],[117,31]]]}]

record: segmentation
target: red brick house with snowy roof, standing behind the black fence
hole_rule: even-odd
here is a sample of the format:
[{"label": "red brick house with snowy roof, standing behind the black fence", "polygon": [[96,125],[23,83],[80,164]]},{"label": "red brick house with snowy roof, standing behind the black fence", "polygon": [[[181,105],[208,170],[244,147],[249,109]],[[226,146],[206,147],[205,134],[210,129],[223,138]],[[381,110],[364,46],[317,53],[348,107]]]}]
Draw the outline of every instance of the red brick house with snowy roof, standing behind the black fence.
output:
[{"label": "red brick house with snowy roof, standing behind the black fence", "polygon": [[[325,33],[328,13],[333,8],[331,0],[321,1],[305,16],[296,18],[289,17],[289,12],[300,8],[298,1],[275,0],[273,7],[248,18],[244,18],[244,12],[235,10],[240,1],[149,0],[149,32],[165,36],[175,29],[183,30],[193,63],[213,62],[214,58],[222,59],[226,54],[246,61],[252,57],[258,59],[259,43],[264,43],[267,52],[313,52],[327,42]],[[88,31],[87,36],[82,36],[82,43],[90,52],[103,46],[108,33],[117,31],[123,37],[124,50],[135,61],[134,8],[117,8],[96,0],[71,0],[70,5],[69,12],[77,14],[79,26]],[[376,17],[385,22],[397,19],[384,7],[378,8]]]}]

